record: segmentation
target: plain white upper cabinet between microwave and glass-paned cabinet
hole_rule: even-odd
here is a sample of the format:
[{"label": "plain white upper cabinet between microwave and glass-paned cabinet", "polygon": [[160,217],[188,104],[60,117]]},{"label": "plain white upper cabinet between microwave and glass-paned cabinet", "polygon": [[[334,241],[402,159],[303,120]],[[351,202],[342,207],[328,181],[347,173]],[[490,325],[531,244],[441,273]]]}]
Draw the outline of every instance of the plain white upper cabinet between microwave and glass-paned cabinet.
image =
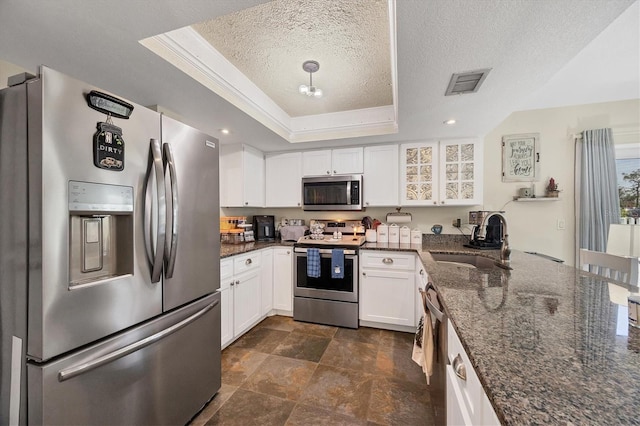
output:
[{"label": "plain white upper cabinet between microwave and glass-paned cabinet", "polygon": [[364,205],[397,206],[399,204],[398,145],[374,145],[364,148]]}]

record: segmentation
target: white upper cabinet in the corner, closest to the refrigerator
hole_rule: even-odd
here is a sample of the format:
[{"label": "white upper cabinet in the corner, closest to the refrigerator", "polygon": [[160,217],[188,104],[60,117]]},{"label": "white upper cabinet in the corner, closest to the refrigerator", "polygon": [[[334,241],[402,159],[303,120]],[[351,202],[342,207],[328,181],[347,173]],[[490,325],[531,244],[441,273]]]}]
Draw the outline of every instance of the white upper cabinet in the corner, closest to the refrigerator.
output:
[{"label": "white upper cabinet in the corner, closest to the refrigerator", "polygon": [[248,145],[220,146],[220,207],[264,207],[264,154]]}]

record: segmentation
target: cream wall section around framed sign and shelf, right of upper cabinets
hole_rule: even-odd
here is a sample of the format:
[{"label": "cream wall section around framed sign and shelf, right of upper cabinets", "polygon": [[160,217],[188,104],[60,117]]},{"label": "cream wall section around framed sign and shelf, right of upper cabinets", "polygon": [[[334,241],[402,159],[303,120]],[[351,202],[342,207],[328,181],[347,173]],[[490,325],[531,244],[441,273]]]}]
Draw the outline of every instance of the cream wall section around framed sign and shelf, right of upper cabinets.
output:
[{"label": "cream wall section around framed sign and shelf, right of upper cabinets", "polygon": [[[517,133],[539,133],[540,175],[537,195],[544,194],[553,177],[562,192],[553,202],[510,202],[506,210],[511,245],[563,259],[573,265],[575,256],[574,140],[583,130],[611,127],[616,143],[640,139],[640,100],[607,102],[563,108],[516,112],[485,137],[484,202],[486,209],[498,209],[526,183],[503,183],[501,138]],[[565,229],[558,229],[558,220]]]}]

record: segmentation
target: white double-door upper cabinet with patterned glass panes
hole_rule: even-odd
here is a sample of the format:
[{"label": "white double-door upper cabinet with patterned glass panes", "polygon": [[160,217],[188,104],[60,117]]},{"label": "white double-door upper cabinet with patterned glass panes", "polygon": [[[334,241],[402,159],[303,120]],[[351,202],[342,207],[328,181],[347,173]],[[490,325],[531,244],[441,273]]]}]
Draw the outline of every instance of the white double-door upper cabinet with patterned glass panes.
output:
[{"label": "white double-door upper cabinet with patterned glass panes", "polygon": [[482,142],[455,140],[400,146],[402,205],[482,204]]}]

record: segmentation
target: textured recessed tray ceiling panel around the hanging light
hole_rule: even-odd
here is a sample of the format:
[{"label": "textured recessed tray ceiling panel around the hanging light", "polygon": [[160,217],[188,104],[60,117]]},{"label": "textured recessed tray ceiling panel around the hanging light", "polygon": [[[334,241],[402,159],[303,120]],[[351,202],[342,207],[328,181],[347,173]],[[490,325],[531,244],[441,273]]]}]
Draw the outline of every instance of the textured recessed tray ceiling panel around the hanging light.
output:
[{"label": "textured recessed tray ceiling panel around the hanging light", "polygon": [[[386,0],[275,0],[192,27],[289,116],[393,104]],[[320,63],[321,99],[306,60]]]}]

